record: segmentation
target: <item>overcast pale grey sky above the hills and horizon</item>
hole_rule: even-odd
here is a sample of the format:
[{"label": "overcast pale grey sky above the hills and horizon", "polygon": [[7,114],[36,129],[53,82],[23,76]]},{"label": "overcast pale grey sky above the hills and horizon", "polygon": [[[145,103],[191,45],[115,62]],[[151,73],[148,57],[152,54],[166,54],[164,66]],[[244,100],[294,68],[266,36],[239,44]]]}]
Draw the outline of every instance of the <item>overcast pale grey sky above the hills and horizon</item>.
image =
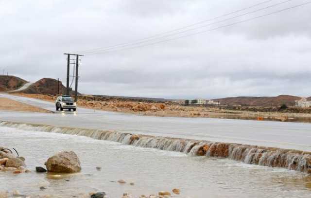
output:
[{"label": "overcast pale grey sky above the hills and horizon", "polygon": [[[63,53],[128,43],[263,1],[0,0],[0,70],[31,82],[60,78],[65,85]],[[283,1],[271,0],[191,26],[207,25],[204,28],[141,44],[208,31],[308,2],[291,0],[225,20]],[[220,20],[225,21],[208,25]],[[101,53],[82,57],[80,92],[175,99],[310,96],[311,4],[194,36]]]}]

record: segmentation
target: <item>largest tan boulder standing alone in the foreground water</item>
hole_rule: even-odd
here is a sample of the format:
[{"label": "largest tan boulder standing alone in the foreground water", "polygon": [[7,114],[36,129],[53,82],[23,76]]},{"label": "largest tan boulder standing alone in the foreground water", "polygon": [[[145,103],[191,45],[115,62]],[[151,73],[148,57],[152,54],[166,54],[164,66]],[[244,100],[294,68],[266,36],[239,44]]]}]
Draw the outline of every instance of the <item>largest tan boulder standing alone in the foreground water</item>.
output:
[{"label": "largest tan boulder standing alone in the foreground water", "polygon": [[81,171],[80,160],[73,151],[62,151],[46,162],[48,171],[57,173],[76,173]]}]

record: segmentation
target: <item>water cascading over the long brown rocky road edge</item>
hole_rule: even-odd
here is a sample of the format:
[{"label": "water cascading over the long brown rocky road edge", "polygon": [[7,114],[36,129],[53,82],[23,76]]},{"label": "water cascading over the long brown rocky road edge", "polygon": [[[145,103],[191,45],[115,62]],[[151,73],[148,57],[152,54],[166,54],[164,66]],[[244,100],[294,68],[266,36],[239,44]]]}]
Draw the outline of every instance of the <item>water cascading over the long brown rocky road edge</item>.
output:
[{"label": "water cascading over the long brown rocky road edge", "polygon": [[270,167],[282,167],[290,170],[311,173],[311,152],[264,147],[246,144],[218,143],[181,138],[157,137],[120,133],[118,131],[83,129],[49,125],[33,125],[14,122],[2,122],[0,126],[15,127],[22,130],[53,132],[86,136],[97,140],[107,140],[175,152],[192,156],[220,157]]}]

